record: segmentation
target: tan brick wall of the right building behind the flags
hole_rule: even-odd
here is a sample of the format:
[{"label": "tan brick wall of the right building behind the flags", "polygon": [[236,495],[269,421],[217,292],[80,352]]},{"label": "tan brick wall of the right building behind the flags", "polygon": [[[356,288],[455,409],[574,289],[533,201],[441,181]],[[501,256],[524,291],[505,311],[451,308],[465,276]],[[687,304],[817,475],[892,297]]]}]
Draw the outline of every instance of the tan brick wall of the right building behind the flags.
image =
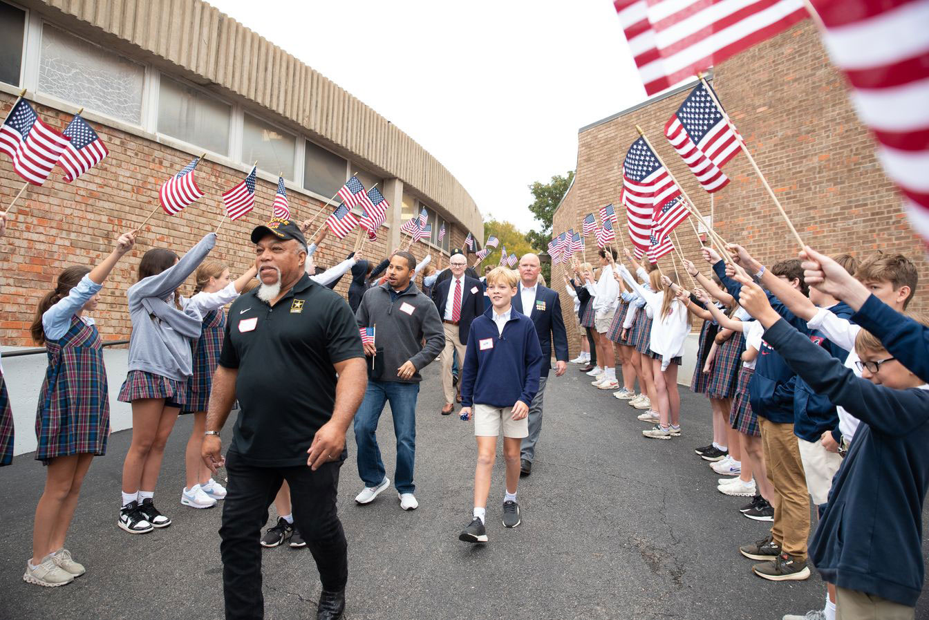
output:
[{"label": "tan brick wall of the right building behind the flags", "polygon": [[[875,250],[903,253],[916,262],[923,277],[929,275],[922,243],[909,228],[896,191],[875,158],[873,140],[858,122],[843,78],[832,68],[810,21],[716,67],[713,88],[807,244],[859,258]],[[638,137],[636,124],[700,211],[709,215],[710,195],[700,189],[662,133],[687,92],[579,134],[577,174],[556,212],[555,231],[577,229],[585,214],[603,204],[619,204],[622,160]],[[716,231],[727,242],[745,244],[768,265],[795,257],[796,242],[748,159],[739,154],[725,171],[732,180],[713,198]],[[617,212],[628,240],[625,209]],[[684,256],[696,261],[699,244],[689,224],[682,223],[676,231]],[[586,257],[596,265],[595,250],[591,241]],[[564,267],[554,268],[553,284],[562,294],[563,308],[570,309],[558,275]],[[706,263],[699,267],[708,270]],[[671,255],[661,260],[661,269],[674,269]],[[683,270],[680,275],[689,284]],[[927,296],[917,292],[910,307],[926,310]],[[578,347],[576,322],[567,313],[573,356]]]}]

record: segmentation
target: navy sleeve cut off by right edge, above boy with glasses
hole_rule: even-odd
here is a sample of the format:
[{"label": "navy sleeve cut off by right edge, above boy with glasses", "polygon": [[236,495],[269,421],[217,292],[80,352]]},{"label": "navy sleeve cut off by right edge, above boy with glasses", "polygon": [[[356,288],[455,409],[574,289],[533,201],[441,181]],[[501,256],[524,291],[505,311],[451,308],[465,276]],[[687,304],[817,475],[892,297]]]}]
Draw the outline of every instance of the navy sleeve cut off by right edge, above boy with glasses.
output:
[{"label": "navy sleeve cut off by right edge, above boy with glasses", "polygon": [[909,372],[929,383],[929,327],[900,314],[873,295],[852,315],[852,321],[877,336],[884,349]]}]

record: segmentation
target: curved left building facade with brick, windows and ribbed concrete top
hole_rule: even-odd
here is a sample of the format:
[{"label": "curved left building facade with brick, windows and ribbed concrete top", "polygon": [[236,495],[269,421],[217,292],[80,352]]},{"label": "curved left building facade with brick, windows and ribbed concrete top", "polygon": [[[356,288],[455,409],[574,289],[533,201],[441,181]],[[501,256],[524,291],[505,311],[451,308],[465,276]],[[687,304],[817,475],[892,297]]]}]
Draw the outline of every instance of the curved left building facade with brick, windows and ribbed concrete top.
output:
[{"label": "curved left building facade with brick, windows and ribbed concrete top", "polygon": [[[130,333],[125,289],[151,247],[183,254],[222,215],[221,194],[257,162],[255,210],[226,222],[212,256],[233,274],[247,268],[248,231],[270,218],[278,174],[293,217],[320,228],[324,205],[352,174],[375,183],[391,208],[378,241],[363,255],[379,260],[401,243],[399,224],[426,208],[432,237],[417,257],[448,255],[470,231],[483,242],[477,204],[435,157],[396,125],[280,47],[201,0],[0,0],[0,115],[20,91],[59,130],[74,112],[98,132],[110,155],[68,184],[59,169],[29,187],[11,212],[0,253],[0,342],[32,344],[35,302],[59,271],[93,265],[158,204],[158,188],[206,152],[196,179],[205,196],[174,217],[159,212],[131,256],[114,270],[96,318],[106,339]],[[0,156],[0,201],[22,187]],[[446,236],[438,243],[438,231]],[[323,266],[355,244],[330,235]],[[446,260],[447,264],[447,260]],[[347,280],[336,290],[345,292]],[[188,293],[190,291],[187,291]]]}]

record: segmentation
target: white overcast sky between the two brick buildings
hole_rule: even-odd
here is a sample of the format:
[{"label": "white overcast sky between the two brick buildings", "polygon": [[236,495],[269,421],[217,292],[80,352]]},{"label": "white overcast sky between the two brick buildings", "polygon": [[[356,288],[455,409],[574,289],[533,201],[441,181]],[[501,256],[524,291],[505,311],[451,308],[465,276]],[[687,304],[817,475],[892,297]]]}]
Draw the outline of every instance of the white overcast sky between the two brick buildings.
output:
[{"label": "white overcast sky between the two brick buildings", "polygon": [[208,0],[399,126],[485,218],[535,226],[528,185],[580,127],[645,99],[609,0]]}]

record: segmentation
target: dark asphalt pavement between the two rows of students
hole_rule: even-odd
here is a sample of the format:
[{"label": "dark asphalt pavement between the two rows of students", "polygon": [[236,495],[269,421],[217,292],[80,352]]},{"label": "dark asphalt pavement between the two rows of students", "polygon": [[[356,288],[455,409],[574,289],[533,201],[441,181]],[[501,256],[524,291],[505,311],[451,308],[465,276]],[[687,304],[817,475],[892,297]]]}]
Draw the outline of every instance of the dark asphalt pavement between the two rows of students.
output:
[{"label": "dark asphalt pavement between the two rows of students", "polygon": [[[519,483],[522,524],[514,530],[500,521],[500,453],[485,546],[458,541],[471,517],[476,445],[471,424],[457,413],[438,413],[438,363],[425,370],[417,410],[420,508],[401,510],[393,488],[369,506],[355,504],[362,483],[349,432],[351,456],[339,487],[349,546],[348,619],[775,620],[822,606],[825,584],[818,575],[768,582],[739,555],[739,545],[764,538],[766,528],[740,516],[746,499],[718,493],[718,476],[693,452],[711,438],[705,398],[682,387],[683,436],[649,440],[635,410],[592,388],[577,369],[569,364],[566,376],[553,373],[548,381],[542,439],[532,475]],[[155,495],[174,523],[152,534],[129,535],[116,525],[131,431],[113,433],[108,455],[86,477],[68,537],[87,573],[66,587],[22,581],[42,466],[21,455],[0,469],[0,618],[223,616],[220,509],[179,504],[191,421],[184,416],[177,423]],[[378,440],[392,479],[389,409]],[[274,520],[273,508],[271,515]],[[315,618],[320,585],[307,549],[278,547],[262,555],[266,617]],[[924,599],[918,618],[929,616]]]}]

